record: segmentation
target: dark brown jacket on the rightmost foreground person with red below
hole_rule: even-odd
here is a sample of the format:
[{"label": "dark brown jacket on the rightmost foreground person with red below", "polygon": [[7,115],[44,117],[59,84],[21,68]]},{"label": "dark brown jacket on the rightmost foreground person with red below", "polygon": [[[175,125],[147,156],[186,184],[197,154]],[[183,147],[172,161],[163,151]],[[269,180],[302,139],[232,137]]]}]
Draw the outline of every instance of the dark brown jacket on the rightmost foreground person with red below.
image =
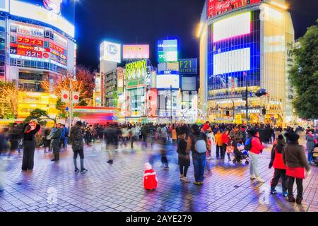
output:
[{"label": "dark brown jacket on the rightmost foreground person with red below", "polygon": [[307,171],[310,170],[305,151],[302,146],[296,142],[287,143],[283,147],[283,161],[287,167],[305,167]]}]

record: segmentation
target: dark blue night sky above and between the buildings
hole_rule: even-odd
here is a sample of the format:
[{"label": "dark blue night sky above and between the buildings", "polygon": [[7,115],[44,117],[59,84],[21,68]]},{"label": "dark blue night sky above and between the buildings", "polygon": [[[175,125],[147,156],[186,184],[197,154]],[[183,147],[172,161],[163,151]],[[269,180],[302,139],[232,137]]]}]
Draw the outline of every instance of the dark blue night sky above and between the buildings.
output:
[{"label": "dark blue night sky above and between the buildings", "polygon": [[[288,0],[295,37],[318,18],[317,0]],[[98,69],[102,40],[150,44],[157,65],[157,40],[177,38],[179,58],[199,57],[196,26],[204,0],[79,0],[76,4],[77,64]]]}]

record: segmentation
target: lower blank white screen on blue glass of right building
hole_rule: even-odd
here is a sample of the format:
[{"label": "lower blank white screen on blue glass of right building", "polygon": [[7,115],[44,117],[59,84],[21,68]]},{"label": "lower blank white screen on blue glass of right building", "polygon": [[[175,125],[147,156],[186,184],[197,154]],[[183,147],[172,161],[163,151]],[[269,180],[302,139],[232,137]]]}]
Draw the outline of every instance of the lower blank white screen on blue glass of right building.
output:
[{"label": "lower blank white screen on blue glass of right building", "polygon": [[213,55],[213,74],[220,75],[236,71],[251,69],[250,49],[237,49]]}]

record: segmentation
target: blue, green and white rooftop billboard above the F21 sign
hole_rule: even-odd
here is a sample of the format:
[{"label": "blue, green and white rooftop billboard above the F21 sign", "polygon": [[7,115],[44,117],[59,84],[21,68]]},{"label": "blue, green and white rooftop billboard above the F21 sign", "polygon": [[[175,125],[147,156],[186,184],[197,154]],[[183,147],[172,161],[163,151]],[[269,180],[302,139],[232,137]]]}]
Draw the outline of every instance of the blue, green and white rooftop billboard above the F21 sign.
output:
[{"label": "blue, green and white rooftop billboard above the F21 sign", "polygon": [[158,62],[178,61],[178,40],[158,41]]}]

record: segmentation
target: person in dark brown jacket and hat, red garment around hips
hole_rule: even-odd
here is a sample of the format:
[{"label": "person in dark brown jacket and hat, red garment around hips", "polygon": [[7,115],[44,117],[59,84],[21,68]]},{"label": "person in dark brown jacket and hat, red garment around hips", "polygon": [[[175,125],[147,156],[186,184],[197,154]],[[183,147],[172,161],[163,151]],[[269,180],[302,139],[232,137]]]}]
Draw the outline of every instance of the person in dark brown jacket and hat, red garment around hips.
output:
[{"label": "person in dark brown jacket and hat, red garment around hips", "polygon": [[[287,144],[283,147],[283,161],[286,165],[286,175],[288,176],[288,201],[302,203],[302,180],[305,179],[305,169],[307,174],[311,173],[307,163],[305,150],[299,145],[300,136],[296,133],[285,133]],[[293,184],[296,180],[297,198],[293,196]]]}]

